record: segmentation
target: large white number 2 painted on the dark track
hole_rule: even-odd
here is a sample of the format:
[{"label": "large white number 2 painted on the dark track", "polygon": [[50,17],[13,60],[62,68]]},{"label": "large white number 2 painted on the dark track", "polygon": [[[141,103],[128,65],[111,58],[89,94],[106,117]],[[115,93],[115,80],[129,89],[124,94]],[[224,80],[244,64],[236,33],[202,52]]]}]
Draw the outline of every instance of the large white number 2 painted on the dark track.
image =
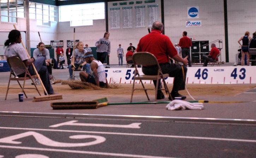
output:
[{"label": "large white number 2 painted on the dark track", "polygon": [[13,140],[24,138],[24,137],[27,137],[30,135],[34,136],[34,138],[36,139],[36,141],[38,143],[40,143],[42,145],[46,145],[46,146],[53,146],[53,147],[90,146],[90,145],[100,144],[100,143],[106,141],[106,138],[104,138],[103,136],[98,136],[98,135],[72,135],[69,138],[71,138],[71,139],[94,138],[96,140],[90,141],[90,142],[84,142],[84,143],[65,143],[65,142],[54,141],[40,133],[29,131],[29,132],[20,133],[20,134],[8,136],[5,138],[1,138],[0,143],[22,144],[22,142],[20,142],[20,141],[13,141]]}]

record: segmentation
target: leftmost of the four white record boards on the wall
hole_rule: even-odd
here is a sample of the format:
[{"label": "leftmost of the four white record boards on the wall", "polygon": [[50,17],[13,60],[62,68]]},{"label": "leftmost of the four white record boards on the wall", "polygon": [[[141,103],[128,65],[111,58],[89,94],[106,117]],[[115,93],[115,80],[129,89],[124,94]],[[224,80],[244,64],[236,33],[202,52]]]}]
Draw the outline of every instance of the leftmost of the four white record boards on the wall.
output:
[{"label": "leftmost of the four white record boards on the wall", "polygon": [[110,8],[110,28],[120,29],[120,8]]}]

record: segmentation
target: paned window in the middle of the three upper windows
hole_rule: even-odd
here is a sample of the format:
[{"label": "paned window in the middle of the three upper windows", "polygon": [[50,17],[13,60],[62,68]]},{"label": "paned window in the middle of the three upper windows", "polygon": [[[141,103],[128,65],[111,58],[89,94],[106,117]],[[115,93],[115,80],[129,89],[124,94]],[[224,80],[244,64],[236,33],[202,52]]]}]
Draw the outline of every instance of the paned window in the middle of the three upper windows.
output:
[{"label": "paned window in the middle of the three upper windows", "polygon": [[36,19],[37,25],[50,26],[50,21],[57,21],[57,7],[29,2],[29,18]]}]

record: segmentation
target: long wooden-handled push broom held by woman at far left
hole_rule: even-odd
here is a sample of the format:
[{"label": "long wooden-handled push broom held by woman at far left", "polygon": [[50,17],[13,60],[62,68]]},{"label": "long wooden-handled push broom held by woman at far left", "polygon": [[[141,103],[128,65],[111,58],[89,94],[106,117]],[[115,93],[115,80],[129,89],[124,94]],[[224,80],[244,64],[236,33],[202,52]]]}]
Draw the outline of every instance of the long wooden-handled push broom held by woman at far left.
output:
[{"label": "long wooden-handled push broom held by woman at far left", "polygon": [[[15,30],[17,30],[15,25],[13,25],[13,27],[14,27]],[[23,48],[26,50],[26,47],[25,47],[24,43],[22,41],[21,41],[21,43],[22,43]],[[29,56],[29,53],[28,53],[27,50],[26,50],[26,53],[27,53],[27,56],[30,59],[30,56]],[[38,72],[36,70],[36,67],[35,67],[34,63],[32,63],[32,66],[33,66],[34,71],[35,71],[35,73],[36,73],[36,75],[37,75],[37,77],[38,77],[38,79],[39,79],[39,81],[40,81],[40,83],[41,83],[41,85],[43,87],[44,92],[46,93],[46,96],[34,97],[33,102],[41,102],[41,101],[50,101],[50,100],[62,99],[62,95],[48,95],[47,90],[45,89],[45,87],[43,85],[43,82],[42,82],[42,80],[40,78],[40,75],[38,74]]]}]

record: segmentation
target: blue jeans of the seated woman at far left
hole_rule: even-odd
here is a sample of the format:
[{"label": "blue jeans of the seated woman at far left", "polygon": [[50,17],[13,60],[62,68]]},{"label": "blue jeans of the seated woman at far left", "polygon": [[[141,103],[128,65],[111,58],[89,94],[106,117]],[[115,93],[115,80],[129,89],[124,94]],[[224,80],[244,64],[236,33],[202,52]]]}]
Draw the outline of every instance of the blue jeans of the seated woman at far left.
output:
[{"label": "blue jeans of the seated woman at far left", "polygon": [[[49,75],[48,75],[48,71],[47,71],[47,67],[46,67],[46,63],[45,63],[45,57],[40,56],[33,63],[35,65],[36,71],[40,75],[40,78],[43,82],[43,85],[44,85],[47,93],[50,95],[54,94],[52,85],[50,84],[50,79],[49,79]],[[31,75],[36,74],[32,65],[29,66],[28,70]]]}]

